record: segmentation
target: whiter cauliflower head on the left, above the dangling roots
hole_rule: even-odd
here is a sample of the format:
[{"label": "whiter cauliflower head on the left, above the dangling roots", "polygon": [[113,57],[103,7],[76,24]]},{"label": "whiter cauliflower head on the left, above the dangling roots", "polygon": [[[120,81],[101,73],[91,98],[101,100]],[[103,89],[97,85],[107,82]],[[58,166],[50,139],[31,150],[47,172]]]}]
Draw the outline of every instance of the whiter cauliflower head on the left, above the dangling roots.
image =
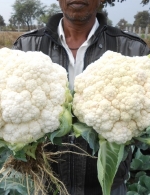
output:
[{"label": "whiter cauliflower head on the left, above the dangling roots", "polygon": [[66,70],[42,52],[0,49],[0,137],[27,144],[59,129],[62,117],[69,123],[67,86]]}]

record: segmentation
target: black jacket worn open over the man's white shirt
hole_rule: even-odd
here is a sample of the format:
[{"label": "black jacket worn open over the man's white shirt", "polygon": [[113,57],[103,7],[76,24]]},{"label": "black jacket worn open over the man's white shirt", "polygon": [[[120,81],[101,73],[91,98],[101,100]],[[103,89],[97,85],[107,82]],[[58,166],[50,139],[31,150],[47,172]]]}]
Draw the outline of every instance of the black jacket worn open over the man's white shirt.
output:
[{"label": "black jacket worn open over the man's white shirt", "polygon": [[[23,51],[42,51],[49,55],[53,62],[68,69],[68,55],[61,45],[57,34],[57,28],[62,14],[53,16],[45,28],[22,35],[14,43],[14,49]],[[84,57],[84,69],[102,56],[107,50],[113,50],[127,56],[147,55],[149,48],[139,37],[125,33],[117,28],[106,24],[105,18],[97,14],[100,27],[92,37]],[[72,142],[71,136],[66,136],[64,142]],[[81,137],[73,141],[77,146],[91,153],[86,141]],[[73,147],[53,146],[49,150],[65,151],[75,150]],[[114,179],[112,189],[121,185],[129,170],[131,153],[124,162],[121,162],[119,170]],[[54,171],[59,179],[64,182],[71,195],[102,195],[99,181],[97,179],[97,161],[85,156],[64,154],[59,158],[58,164],[53,164]]]}]

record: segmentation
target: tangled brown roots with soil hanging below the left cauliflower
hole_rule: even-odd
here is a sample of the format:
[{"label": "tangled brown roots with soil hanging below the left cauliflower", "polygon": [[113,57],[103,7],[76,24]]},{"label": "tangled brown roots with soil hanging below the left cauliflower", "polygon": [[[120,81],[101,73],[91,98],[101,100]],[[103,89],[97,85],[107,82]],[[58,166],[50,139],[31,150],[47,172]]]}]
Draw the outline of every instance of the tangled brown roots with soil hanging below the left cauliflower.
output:
[{"label": "tangled brown roots with soil hanging below the left cauliflower", "polygon": [[[9,177],[11,172],[15,170],[21,175],[20,182],[25,179],[28,185],[29,180],[32,180],[34,192],[31,192],[31,186],[27,186],[28,195],[47,195],[49,189],[53,191],[53,188],[57,189],[60,194],[69,195],[65,185],[57,178],[51,168],[51,163],[57,163],[53,160],[54,156],[55,153],[51,157],[51,152],[46,152],[44,144],[41,143],[36,149],[36,159],[27,156],[27,162],[24,162],[10,156],[0,170],[0,174],[7,172]],[[6,176],[3,179],[7,179]]]}]

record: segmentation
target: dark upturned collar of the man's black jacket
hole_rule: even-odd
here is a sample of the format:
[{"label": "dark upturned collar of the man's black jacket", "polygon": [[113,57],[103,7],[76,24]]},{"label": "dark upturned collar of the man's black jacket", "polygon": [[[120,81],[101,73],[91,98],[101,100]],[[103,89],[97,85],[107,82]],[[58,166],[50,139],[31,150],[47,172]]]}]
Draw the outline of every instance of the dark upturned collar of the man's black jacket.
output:
[{"label": "dark upturned collar of the man's black jacket", "polygon": [[[52,39],[58,43],[60,43],[60,40],[59,40],[59,36],[57,33],[57,29],[58,29],[58,25],[62,17],[63,17],[62,13],[53,15],[49,19],[46,25],[46,30],[45,30],[46,33],[48,33],[52,37]],[[107,25],[106,18],[102,13],[97,13],[96,17],[97,17],[98,22],[100,23],[100,27],[95,32],[95,36],[98,35],[100,29],[102,29],[103,26]]]}]

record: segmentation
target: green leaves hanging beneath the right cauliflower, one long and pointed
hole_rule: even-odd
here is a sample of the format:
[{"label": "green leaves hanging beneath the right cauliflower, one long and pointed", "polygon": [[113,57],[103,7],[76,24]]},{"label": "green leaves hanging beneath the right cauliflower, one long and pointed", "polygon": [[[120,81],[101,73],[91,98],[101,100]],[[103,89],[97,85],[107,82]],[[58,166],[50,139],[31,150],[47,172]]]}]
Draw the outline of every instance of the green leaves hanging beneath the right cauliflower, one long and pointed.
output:
[{"label": "green leaves hanging beneath the right cauliflower, one long and pointed", "polygon": [[103,195],[110,195],[113,179],[120,162],[124,158],[125,144],[109,142],[97,134],[92,127],[84,123],[73,124],[76,137],[82,136],[93,150],[93,155],[98,152],[97,172]]}]

